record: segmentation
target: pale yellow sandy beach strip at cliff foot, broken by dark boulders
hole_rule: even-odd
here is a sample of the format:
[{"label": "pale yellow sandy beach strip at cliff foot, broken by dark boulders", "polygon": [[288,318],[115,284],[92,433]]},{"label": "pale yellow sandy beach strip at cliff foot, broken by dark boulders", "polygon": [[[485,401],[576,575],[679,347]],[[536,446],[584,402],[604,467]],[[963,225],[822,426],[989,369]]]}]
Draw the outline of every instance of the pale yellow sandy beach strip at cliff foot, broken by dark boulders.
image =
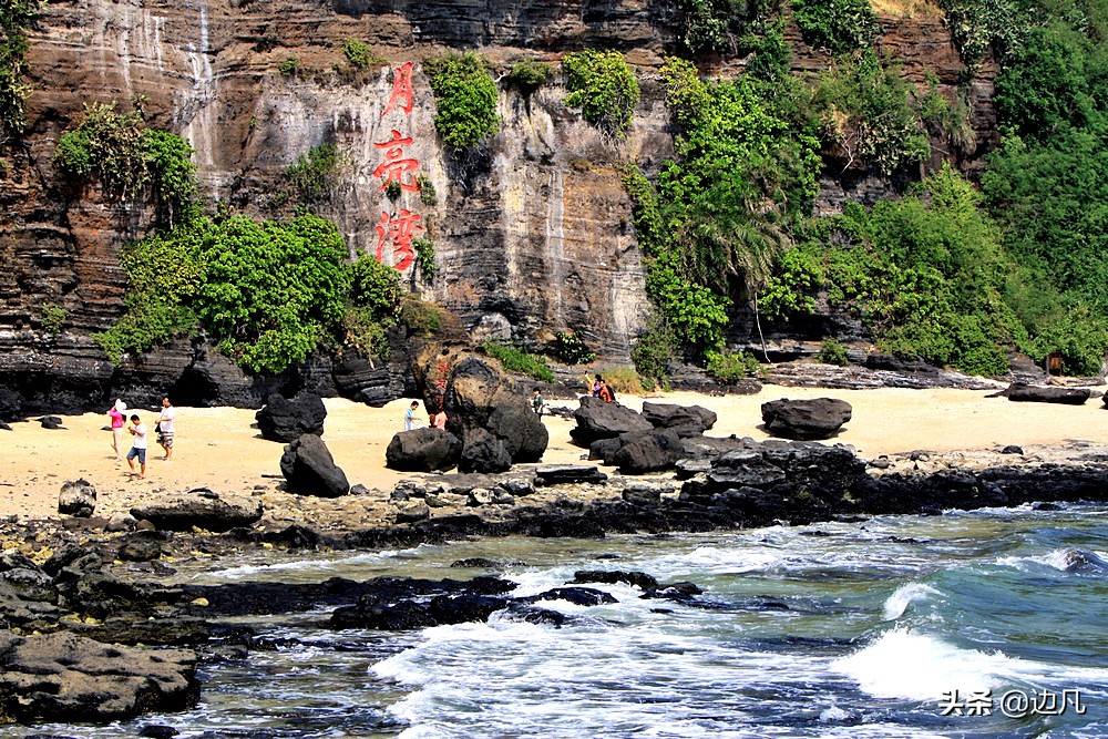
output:
[{"label": "pale yellow sandy beach strip at cliff foot, broken by dark boulders", "polygon": [[[738,434],[766,439],[761,403],[779,398],[840,398],[853,407],[853,419],[835,442],[853,445],[862,456],[911,450],[995,450],[1006,444],[1025,448],[1067,445],[1074,440],[1108,444],[1108,411],[1099,399],[1085,406],[1014,403],[986,398],[977,390],[829,390],[767,386],[756,396],[715,398],[695,393],[646,397],[656,402],[697,403],[719,414],[709,435]],[[124,399],[126,400],[126,399]],[[620,396],[619,401],[642,408],[644,398]],[[379,489],[378,512],[386,510],[387,491],[411,473],[384,469],[384,450],[402,428],[407,400],[384,408],[369,408],[342,399],[327,399],[324,440],[351,483]],[[555,406],[576,406],[554,401]],[[105,409],[106,410],[106,409]],[[153,429],[157,413],[140,411]],[[129,411],[130,414],[130,411]],[[551,444],[544,462],[575,462],[584,450],[570,443],[573,423],[557,417],[544,419]],[[111,450],[106,414],[63,417],[64,430],[47,430],[37,421],[13,423],[0,430],[0,516],[57,515],[58,492],[65,480],[84,478],[99,491],[98,514],[125,511],[134,501],[162,491],[178,492],[207,486],[219,492],[274,493],[280,482],[283,445],[266,441],[250,428],[254,411],[234,408],[178,408],[175,456],[160,459],[161,448],[151,433],[145,480],[127,476],[126,461]],[[130,437],[127,437],[130,439]],[[367,512],[368,514],[368,512]],[[369,514],[368,514],[369,515]],[[372,515],[370,515],[372,517]]]}]

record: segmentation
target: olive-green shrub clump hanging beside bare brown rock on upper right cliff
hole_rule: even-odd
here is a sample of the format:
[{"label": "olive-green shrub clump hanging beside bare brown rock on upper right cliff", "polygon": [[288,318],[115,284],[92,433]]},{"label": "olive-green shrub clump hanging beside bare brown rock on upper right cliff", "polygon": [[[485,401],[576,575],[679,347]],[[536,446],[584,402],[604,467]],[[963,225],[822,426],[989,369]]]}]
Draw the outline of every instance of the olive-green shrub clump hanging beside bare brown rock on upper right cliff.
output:
[{"label": "olive-green shrub clump hanging beside bare brown rock on upper right cliff", "polygon": [[899,66],[883,66],[872,52],[840,60],[822,73],[814,104],[824,136],[848,166],[860,158],[892,174],[931,154],[911,86]]}]

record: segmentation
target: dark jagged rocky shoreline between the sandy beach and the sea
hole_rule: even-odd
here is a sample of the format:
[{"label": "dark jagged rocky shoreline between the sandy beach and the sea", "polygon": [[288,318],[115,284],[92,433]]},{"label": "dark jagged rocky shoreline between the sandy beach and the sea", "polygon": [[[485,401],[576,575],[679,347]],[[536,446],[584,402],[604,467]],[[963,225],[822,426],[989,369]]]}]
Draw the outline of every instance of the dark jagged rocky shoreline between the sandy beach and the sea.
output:
[{"label": "dark jagged rocky shoreline between the sandy beach and the sea", "polygon": [[648,574],[624,573],[589,575],[521,602],[511,597],[511,583],[491,576],[501,565],[484,561],[462,563],[490,574],[470,581],[177,583],[174,565],[196,557],[259,548],[400,548],[473,536],[728,531],[1108,500],[1108,450],[1076,443],[1006,451],[863,460],[841,444],[730,438],[665,474],[608,474],[583,464],[424,475],[397,486],[397,511],[433,506],[444,515],[360,530],[314,525],[311,506],[285,528],[235,526],[218,534],[148,523],[109,532],[95,519],[9,520],[0,524],[0,720],[114,720],[193,705],[198,663],[248,659],[252,649],[266,648],[264,633],[229,626],[223,622],[228,616],[326,607],[332,615],[321,627],[406,629],[480,620],[506,608],[512,617],[556,626],[561,615],[542,601],[603,597],[582,587],[589,577],[634,581],[644,597],[695,601],[698,593],[693,584],[660,585]]}]

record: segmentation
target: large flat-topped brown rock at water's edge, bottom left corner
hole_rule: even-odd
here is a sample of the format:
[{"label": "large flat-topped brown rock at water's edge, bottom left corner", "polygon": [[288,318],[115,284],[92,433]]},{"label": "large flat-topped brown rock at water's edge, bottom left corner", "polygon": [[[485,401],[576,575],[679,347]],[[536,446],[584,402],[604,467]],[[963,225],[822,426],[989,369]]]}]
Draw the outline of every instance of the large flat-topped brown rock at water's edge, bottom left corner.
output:
[{"label": "large flat-topped brown rock at water's edge, bottom left corner", "polygon": [[0,630],[0,717],[113,721],[196,704],[196,654]]}]

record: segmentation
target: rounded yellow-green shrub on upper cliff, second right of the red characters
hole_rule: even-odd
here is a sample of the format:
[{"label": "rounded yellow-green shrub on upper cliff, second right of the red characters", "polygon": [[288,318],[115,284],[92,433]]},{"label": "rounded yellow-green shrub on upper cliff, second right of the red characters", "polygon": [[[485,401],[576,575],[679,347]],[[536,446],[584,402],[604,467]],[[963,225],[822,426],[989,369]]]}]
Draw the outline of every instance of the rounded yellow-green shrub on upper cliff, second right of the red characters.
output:
[{"label": "rounded yellow-green shrub on upper cliff, second right of the red characters", "polygon": [[638,80],[618,51],[585,51],[562,58],[570,94],[565,104],[579,107],[585,120],[613,136],[630,130],[638,105]]}]

